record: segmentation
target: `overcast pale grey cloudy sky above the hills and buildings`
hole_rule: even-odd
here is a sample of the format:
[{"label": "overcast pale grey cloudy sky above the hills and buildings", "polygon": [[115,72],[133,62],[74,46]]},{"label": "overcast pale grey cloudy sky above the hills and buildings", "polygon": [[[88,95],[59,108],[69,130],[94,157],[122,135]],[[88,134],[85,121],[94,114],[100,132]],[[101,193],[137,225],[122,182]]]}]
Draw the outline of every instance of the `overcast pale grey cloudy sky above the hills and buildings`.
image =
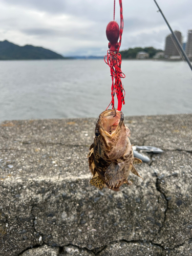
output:
[{"label": "overcast pale grey cloudy sky above the hills and buildings", "polygon": [[[153,0],[122,0],[124,31],[120,50],[163,49],[169,30]],[[173,30],[192,29],[191,0],[157,0]],[[105,55],[106,25],[113,20],[113,0],[0,0],[0,40],[42,46],[64,56]],[[115,20],[119,23],[116,0]]]}]

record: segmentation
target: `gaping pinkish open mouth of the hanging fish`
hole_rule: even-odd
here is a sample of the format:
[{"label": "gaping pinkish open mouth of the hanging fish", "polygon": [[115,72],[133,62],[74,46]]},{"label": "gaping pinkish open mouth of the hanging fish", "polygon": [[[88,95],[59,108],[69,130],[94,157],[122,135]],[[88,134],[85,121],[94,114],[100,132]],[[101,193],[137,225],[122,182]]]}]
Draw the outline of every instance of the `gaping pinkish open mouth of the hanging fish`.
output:
[{"label": "gaping pinkish open mouth of the hanging fish", "polygon": [[118,126],[121,126],[124,120],[123,113],[118,110],[105,110],[100,116],[101,126],[103,131],[112,135],[117,130]]}]

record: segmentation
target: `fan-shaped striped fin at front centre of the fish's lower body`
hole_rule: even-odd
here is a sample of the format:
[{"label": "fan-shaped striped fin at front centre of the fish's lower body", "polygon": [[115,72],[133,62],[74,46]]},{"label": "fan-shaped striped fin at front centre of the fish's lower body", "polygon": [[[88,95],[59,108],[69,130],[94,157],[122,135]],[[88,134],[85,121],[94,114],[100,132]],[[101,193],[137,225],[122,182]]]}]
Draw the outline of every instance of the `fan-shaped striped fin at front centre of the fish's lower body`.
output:
[{"label": "fan-shaped striped fin at front centre of the fish's lower body", "polygon": [[111,163],[104,173],[104,178],[110,188],[118,186],[124,178],[124,163]]}]

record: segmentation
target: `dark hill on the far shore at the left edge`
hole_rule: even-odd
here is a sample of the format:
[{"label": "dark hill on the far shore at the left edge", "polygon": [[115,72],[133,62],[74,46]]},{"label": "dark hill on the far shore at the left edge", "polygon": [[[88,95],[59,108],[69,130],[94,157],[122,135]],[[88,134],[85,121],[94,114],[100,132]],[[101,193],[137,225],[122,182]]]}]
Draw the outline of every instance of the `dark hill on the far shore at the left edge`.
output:
[{"label": "dark hill on the far shore at the left edge", "polygon": [[7,40],[0,41],[0,60],[8,59],[64,59],[60,54],[42,47],[17,46]]}]

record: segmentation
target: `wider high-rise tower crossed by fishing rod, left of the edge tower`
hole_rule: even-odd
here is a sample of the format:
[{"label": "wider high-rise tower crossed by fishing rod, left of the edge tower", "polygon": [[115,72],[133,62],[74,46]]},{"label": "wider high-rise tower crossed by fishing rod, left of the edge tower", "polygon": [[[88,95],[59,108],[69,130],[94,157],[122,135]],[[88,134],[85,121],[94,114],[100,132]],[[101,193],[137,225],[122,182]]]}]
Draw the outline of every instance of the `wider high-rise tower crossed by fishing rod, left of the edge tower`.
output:
[{"label": "wider high-rise tower crossed by fishing rod, left of the edge tower", "polygon": [[[174,34],[176,35],[178,41],[182,45],[181,32],[174,31]],[[165,58],[169,58],[170,56],[180,56],[180,54],[177,50],[178,47],[176,47],[176,45],[177,45],[177,43],[176,43],[173,35],[172,34],[167,35],[167,37],[165,38],[165,51],[164,51]]]}]

